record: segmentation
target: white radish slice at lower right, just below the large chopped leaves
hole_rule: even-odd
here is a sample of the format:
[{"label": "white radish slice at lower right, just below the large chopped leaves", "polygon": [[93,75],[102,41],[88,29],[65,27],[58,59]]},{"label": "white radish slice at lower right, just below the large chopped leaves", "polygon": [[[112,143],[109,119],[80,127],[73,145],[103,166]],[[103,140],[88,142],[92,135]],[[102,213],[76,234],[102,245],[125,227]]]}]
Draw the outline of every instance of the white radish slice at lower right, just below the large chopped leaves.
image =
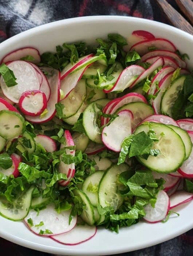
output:
[{"label": "white radish slice at lower right, just below the large chopped leaves", "polygon": [[162,221],[168,214],[170,207],[170,200],[165,191],[161,190],[158,192],[157,201],[153,208],[151,204],[147,204],[144,207],[146,216],[143,217],[147,222],[156,223]]}]

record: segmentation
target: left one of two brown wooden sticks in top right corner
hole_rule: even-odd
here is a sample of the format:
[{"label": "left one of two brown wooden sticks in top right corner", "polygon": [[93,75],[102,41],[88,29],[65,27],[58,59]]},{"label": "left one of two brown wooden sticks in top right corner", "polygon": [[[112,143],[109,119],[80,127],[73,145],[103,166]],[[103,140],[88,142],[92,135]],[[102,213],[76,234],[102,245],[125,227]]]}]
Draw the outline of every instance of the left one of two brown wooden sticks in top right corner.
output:
[{"label": "left one of two brown wooden sticks in top right corner", "polygon": [[[166,0],[156,0],[171,25],[193,35],[193,27],[185,18],[179,14]],[[187,0],[184,0],[185,2]]]}]

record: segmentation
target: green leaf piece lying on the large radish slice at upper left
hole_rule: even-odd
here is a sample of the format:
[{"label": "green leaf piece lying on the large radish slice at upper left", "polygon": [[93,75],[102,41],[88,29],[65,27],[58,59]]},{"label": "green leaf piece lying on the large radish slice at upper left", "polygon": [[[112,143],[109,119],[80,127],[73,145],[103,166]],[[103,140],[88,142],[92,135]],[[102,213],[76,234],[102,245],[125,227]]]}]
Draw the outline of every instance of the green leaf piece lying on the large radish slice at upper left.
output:
[{"label": "green leaf piece lying on the large radish slice at upper left", "polygon": [[13,74],[13,71],[7,67],[4,63],[0,65],[0,74],[3,76],[3,79],[7,87],[12,87],[17,85],[16,77]]}]

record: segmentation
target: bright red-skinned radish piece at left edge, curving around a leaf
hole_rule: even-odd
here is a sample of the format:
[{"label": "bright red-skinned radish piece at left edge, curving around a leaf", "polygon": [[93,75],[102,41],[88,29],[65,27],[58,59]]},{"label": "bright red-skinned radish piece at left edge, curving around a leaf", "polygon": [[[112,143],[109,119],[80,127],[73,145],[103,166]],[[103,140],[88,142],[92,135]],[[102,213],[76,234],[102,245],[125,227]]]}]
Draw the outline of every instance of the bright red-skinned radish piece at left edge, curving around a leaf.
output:
[{"label": "bright red-skinned radish piece at left edge, curving around a leaf", "polygon": [[12,159],[12,166],[8,169],[3,169],[0,167],[0,173],[3,173],[6,176],[10,176],[11,174],[13,174],[14,178],[17,178],[20,174],[18,170],[18,166],[19,166],[19,163],[21,162],[21,159],[19,155],[15,153],[11,155],[11,159]]}]

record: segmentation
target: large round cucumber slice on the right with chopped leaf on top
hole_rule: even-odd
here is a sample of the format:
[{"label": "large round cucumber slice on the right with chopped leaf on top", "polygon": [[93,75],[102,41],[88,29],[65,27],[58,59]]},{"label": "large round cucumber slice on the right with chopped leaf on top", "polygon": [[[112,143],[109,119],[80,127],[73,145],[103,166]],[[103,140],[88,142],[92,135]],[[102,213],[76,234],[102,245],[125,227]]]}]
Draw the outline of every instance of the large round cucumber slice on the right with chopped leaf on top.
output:
[{"label": "large round cucumber slice on the right with chopped leaf on top", "polygon": [[139,125],[134,135],[142,131],[147,133],[150,128],[154,130],[155,135],[159,138],[159,141],[153,142],[152,149],[158,149],[160,155],[157,157],[149,155],[147,160],[138,156],[138,161],[155,172],[175,172],[182,165],[186,157],[185,146],[180,135],[168,127],[168,125],[153,122]]}]

